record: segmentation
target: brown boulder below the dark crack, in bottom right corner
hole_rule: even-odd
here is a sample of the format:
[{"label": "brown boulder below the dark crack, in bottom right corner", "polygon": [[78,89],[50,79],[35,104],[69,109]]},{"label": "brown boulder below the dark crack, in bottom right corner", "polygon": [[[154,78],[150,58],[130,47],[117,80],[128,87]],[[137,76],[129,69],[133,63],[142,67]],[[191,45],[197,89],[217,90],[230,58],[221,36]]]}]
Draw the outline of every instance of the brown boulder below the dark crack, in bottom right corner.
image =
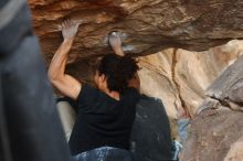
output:
[{"label": "brown boulder below the dark crack, in bottom right corner", "polygon": [[181,161],[242,161],[243,112],[205,109],[196,117]]}]

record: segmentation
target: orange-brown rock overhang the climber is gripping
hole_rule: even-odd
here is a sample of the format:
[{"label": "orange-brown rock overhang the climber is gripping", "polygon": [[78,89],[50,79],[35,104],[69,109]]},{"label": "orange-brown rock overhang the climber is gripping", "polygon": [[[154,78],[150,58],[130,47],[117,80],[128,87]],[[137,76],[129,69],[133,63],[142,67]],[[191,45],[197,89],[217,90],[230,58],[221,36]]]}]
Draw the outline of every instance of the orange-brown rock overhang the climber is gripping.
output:
[{"label": "orange-brown rock overhang the climber is gripping", "polygon": [[62,41],[61,22],[80,26],[71,61],[112,52],[107,34],[122,32],[124,50],[141,55],[166,47],[208,50],[243,37],[241,0],[29,0],[35,33],[47,60]]}]

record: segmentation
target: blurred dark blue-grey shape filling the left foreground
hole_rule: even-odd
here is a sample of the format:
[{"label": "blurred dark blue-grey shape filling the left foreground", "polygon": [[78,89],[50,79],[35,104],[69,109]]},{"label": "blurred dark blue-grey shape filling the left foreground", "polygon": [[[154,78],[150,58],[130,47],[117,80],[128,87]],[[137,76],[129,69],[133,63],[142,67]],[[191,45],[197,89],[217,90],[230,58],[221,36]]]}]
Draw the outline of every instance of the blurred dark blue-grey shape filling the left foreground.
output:
[{"label": "blurred dark blue-grey shape filling the left foreground", "polygon": [[70,161],[28,4],[0,0],[0,161]]}]

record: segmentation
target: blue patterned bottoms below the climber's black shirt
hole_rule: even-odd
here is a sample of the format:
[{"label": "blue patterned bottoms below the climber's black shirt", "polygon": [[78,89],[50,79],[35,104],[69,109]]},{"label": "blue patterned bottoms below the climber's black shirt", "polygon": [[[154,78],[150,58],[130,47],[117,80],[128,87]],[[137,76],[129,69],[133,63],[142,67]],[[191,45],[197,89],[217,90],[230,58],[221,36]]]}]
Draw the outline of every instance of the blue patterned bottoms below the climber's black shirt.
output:
[{"label": "blue patterned bottoms below the climber's black shirt", "polygon": [[133,161],[133,155],[128,150],[101,147],[74,155],[73,161]]}]

